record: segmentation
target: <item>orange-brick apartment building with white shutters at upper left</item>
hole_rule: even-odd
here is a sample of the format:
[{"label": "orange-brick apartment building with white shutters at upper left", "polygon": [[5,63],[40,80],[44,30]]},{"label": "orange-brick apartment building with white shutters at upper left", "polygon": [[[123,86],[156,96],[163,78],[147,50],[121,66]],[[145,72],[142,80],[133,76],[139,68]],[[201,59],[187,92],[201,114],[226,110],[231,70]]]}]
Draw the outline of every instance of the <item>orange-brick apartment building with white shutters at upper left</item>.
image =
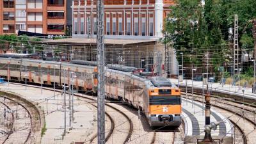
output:
[{"label": "orange-brick apartment building with white shutters at upper left", "polygon": [[66,0],[0,0],[0,35],[65,35]]}]

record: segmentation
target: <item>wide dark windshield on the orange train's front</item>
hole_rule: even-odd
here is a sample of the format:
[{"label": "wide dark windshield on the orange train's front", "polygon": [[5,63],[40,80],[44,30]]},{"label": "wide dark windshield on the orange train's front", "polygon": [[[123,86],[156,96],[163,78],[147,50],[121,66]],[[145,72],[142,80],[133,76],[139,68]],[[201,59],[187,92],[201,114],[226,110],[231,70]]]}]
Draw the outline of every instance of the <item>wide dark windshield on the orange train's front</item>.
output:
[{"label": "wide dark windshield on the orange train's front", "polygon": [[150,96],[150,105],[179,105],[181,104],[180,96]]}]

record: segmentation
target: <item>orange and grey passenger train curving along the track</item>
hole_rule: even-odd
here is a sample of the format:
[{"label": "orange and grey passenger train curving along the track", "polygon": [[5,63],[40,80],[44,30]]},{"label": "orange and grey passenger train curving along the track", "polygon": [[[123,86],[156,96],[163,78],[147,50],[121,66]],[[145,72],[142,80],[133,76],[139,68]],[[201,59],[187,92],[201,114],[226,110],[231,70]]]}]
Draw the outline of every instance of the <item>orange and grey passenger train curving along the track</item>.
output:
[{"label": "orange and grey passenger train curving along the track", "polygon": [[[74,85],[77,90],[97,93],[97,67],[67,62],[0,58],[0,77],[13,81]],[[112,65],[105,72],[106,98],[120,100],[145,114],[150,127],[179,127],[180,89],[164,77],[141,77],[132,67]]]}]

